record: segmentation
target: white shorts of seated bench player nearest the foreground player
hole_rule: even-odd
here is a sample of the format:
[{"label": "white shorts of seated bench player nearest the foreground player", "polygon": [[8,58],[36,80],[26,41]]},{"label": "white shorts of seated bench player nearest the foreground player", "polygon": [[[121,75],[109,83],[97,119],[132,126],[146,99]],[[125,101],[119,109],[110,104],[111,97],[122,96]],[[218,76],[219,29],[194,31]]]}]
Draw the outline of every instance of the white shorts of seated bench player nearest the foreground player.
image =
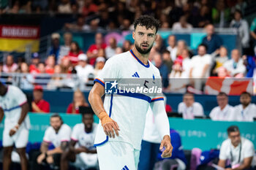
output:
[{"label": "white shorts of seated bench player nearest the foreground player", "polygon": [[82,169],[82,168],[83,169],[89,169],[89,168],[98,169],[99,163],[98,163],[97,153],[81,152],[81,153],[75,155],[75,163],[73,163],[73,165],[80,169]]}]

